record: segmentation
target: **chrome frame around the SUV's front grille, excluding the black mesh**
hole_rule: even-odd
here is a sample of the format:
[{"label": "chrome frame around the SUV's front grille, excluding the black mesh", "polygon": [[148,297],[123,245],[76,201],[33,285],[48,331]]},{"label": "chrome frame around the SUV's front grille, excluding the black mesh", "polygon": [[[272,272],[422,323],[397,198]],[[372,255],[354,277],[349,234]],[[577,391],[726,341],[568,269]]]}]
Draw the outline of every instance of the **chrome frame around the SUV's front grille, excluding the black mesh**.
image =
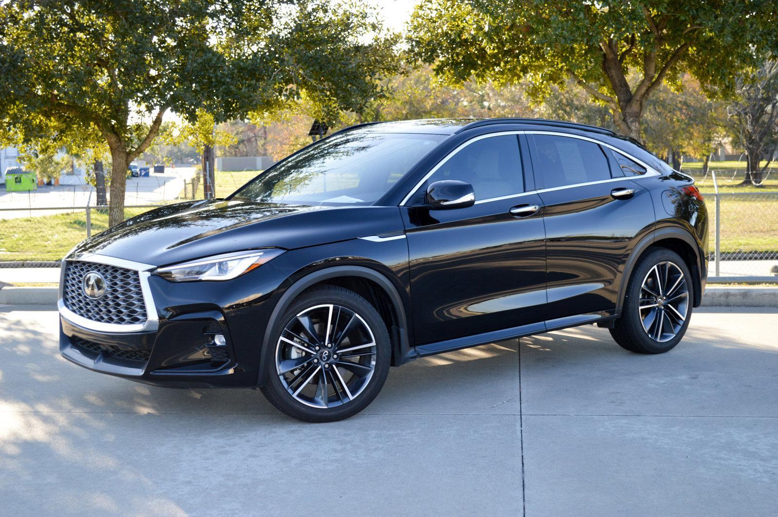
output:
[{"label": "chrome frame around the SUV's front grille, excluding the black mesh", "polygon": [[[79,316],[72,310],[65,307],[65,301],[63,300],[63,290],[65,288],[65,266],[68,260],[80,260],[82,262],[94,262],[96,264],[106,264],[108,266],[124,267],[125,269],[131,269],[138,271],[138,279],[141,283],[141,292],[143,295],[143,302],[146,308],[146,320],[144,323],[133,323],[131,325],[119,325],[117,323],[102,323],[100,321],[89,320],[83,316]],[[95,330],[96,332],[107,333],[127,333],[127,332],[145,332],[156,330],[159,327],[159,317],[156,314],[156,306],[154,305],[154,299],[151,295],[151,287],[149,286],[149,277],[151,276],[151,270],[156,266],[151,264],[143,264],[142,262],[133,262],[132,260],[124,260],[116,257],[108,257],[107,255],[100,255],[97,253],[86,253],[83,255],[77,255],[75,257],[68,257],[62,260],[62,265],[59,274],[59,294],[57,299],[57,306],[60,316],[68,320],[70,323],[78,327],[82,327],[86,330]]]}]

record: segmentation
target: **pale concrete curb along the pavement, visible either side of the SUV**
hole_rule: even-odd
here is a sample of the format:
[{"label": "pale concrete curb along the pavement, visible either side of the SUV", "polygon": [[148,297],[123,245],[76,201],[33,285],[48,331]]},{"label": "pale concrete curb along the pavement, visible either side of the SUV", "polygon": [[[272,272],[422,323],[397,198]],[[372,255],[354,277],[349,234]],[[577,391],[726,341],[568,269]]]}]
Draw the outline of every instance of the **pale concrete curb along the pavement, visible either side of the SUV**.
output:
[{"label": "pale concrete curb along the pavement, visible either side of the SUV", "polygon": [[[58,288],[0,288],[0,305],[57,306]],[[708,287],[703,307],[775,307],[778,309],[776,287]]]}]

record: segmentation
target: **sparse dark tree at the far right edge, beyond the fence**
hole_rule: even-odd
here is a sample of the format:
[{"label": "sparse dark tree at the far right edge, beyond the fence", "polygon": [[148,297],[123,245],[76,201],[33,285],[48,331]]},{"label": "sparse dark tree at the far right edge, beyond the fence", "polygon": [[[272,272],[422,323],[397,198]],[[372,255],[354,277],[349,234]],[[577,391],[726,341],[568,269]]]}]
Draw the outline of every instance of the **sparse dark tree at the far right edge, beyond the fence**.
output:
[{"label": "sparse dark tree at the far right edge, beyond the fence", "polygon": [[[762,184],[762,175],[778,151],[778,61],[767,60],[751,75],[737,79],[737,96],[727,107],[727,128],[735,145],[745,148],[748,169],[742,184]],[[764,167],[759,163],[767,159]]]}]

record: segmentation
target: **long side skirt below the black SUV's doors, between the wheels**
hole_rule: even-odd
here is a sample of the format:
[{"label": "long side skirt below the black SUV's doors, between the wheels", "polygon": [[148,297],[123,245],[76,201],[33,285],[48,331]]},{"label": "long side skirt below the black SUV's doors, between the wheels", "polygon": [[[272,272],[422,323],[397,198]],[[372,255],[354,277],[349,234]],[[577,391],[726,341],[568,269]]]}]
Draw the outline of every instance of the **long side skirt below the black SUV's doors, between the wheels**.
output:
[{"label": "long side skirt below the black SUV's doors, between the wheels", "polygon": [[615,320],[618,317],[616,309],[598,311],[597,313],[578,314],[576,316],[566,316],[556,320],[530,323],[529,325],[510,327],[503,330],[494,330],[492,332],[485,332],[484,334],[475,334],[474,336],[457,337],[456,339],[447,341],[422,344],[415,347],[415,351],[416,354],[418,354],[418,357],[426,357],[428,355],[461,350],[462,348],[471,348],[482,344],[495,343],[496,341],[505,341],[506,339],[544,334],[545,332],[551,332],[552,330],[577,327],[589,323],[604,323],[609,320]]}]

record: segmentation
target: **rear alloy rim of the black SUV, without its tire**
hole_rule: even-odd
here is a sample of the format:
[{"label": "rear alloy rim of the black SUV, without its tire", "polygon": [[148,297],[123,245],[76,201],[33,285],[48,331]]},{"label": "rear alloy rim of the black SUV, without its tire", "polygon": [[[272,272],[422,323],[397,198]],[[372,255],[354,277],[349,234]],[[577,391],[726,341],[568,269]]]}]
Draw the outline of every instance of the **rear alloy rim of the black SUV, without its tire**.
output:
[{"label": "rear alloy rim of the black SUV, without its tire", "polygon": [[640,320],[654,341],[670,341],[681,331],[689,310],[689,286],[677,264],[654,265],[640,286]]}]

